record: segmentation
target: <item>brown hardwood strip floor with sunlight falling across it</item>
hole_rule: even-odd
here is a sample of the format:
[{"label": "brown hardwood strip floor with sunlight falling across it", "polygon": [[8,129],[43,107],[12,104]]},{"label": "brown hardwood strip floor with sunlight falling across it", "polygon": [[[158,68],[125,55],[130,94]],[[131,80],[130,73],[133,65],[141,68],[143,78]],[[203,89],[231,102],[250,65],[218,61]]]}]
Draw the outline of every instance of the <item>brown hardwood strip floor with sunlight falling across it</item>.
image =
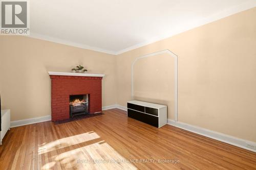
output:
[{"label": "brown hardwood strip floor with sunlight falling across it", "polygon": [[158,129],[119,109],[103,113],[11,128],[0,169],[256,169],[253,152],[169,125]]}]

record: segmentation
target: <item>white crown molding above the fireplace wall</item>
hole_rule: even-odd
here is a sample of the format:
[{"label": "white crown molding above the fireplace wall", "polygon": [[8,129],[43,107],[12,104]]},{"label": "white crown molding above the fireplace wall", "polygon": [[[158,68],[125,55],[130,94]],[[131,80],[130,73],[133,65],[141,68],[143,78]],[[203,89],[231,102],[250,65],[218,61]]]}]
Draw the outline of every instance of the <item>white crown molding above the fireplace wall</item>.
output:
[{"label": "white crown molding above the fireplace wall", "polygon": [[76,43],[76,42],[73,42],[73,41],[68,41],[68,40],[59,39],[59,38],[55,38],[55,37],[50,37],[50,36],[46,36],[46,35],[42,35],[42,34],[37,34],[37,33],[31,33],[30,32],[30,35],[28,35],[27,37],[41,39],[41,40],[45,40],[45,41],[51,41],[51,42],[55,42],[55,43],[59,43],[59,44],[65,44],[65,45],[74,46],[74,47],[78,47],[78,48],[83,48],[83,49],[86,49],[86,50],[92,50],[92,51],[96,51],[96,52],[100,52],[100,53],[116,55],[116,53],[113,52],[113,51],[104,50],[102,48],[98,48],[98,47],[95,47],[95,46],[90,46],[90,45],[86,45],[86,44],[82,44],[82,43]]}]

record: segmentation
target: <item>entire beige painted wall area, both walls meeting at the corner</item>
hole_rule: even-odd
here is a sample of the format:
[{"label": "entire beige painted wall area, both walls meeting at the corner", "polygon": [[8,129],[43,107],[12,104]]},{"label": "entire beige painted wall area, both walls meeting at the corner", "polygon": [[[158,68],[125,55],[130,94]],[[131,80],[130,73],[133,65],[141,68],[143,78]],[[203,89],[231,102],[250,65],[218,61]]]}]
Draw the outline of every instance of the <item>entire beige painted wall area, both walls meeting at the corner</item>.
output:
[{"label": "entire beige painted wall area, both walls meeting at the corner", "polygon": [[[89,72],[106,75],[103,106],[116,102],[125,106],[132,99],[133,61],[168,49],[178,55],[179,122],[256,141],[255,16],[253,8],[118,56],[28,37],[0,36],[3,107],[11,109],[12,120],[50,115],[48,71],[70,71],[79,63]],[[174,119],[172,61],[158,58],[135,65],[135,99],[168,105],[168,118]],[[142,83],[139,75],[150,84]]]}]

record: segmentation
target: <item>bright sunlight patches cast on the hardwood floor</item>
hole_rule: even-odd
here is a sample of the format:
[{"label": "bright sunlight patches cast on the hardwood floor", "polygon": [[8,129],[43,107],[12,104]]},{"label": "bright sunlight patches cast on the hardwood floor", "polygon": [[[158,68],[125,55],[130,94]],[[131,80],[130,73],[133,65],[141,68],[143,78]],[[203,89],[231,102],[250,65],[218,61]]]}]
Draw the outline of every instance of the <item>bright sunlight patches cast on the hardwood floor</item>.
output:
[{"label": "bright sunlight patches cast on the hardwood floor", "polygon": [[[88,133],[86,134],[89,135]],[[76,140],[72,139],[73,137],[64,138],[63,140],[60,139],[58,142],[66,146],[74,144],[74,141],[77,145],[80,145],[78,141],[83,142],[84,139],[89,140],[89,137],[85,137],[84,134],[80,135],[80,137],[83,137],[83,140],[78,139],[78,135],[75,136]],[[99,136],[93,132],[90,138],[93,139],[95,137]],[[48,145],[44,147],[48,147],[47,151],[49,151],[48,149],[54,149],[54,143],[58,144],[58,142],[47,143]],[[64,142],[68,142],[68,144],[64,144]],[[137,169],[104,140],[88,145],[83,143],[83,145],[80,148],[73,148],[74,146],[71,145],[71,147],[51,153],[41,152],[38,155],[38,158],[41,160],[41,169],[55,169],[59,167],[65,167],[66,169]]]}]

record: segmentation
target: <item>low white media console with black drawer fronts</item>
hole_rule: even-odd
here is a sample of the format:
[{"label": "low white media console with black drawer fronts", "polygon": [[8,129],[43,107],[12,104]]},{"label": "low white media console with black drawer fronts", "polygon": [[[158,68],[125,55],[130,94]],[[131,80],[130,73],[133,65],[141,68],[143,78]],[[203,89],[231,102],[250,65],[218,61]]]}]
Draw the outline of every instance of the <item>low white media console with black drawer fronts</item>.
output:
[{"label": "low white media console with black drawer fronts", "polygon": [[130,101],[127,102],[127,116],[160,128],[167,124],[167,106]]}]

